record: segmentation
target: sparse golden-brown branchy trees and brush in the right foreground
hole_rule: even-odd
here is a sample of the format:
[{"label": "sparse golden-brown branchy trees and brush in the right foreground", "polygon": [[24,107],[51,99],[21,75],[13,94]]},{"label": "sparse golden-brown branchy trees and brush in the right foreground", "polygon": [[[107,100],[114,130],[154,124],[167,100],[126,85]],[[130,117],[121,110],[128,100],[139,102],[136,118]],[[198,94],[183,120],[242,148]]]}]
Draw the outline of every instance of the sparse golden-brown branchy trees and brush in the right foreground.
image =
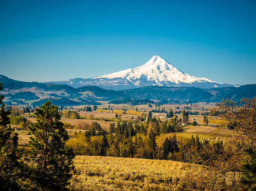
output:
[{"label": "sparse golden-brown branchy trees and brush in the right foreground", "polygon": [[200,164],[201,169],[189,165],[184,185],[190,190],[220,190],[222,185],[230,190],[256,190],[256,98],[240,103],[227,99],[216,106],[210,116],[220,125],[213,136],[225,131],[232,136],[225,144],[196,139],[185,149],[184,161]]}]

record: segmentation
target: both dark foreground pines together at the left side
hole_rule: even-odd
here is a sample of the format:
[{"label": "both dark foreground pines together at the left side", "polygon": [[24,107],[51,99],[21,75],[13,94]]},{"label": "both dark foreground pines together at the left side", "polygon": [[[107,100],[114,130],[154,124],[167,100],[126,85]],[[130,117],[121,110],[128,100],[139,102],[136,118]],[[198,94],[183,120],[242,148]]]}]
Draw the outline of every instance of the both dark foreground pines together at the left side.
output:
[{"label": "both dark foreground pines together at the left side", "polygon": [[28,126],[33,135],[30,149],[21,150],[18,135],[9,129],[10,111],[3,98],[0,95],[0,190],[64,190],[72,176],[74,154],[65,145],[68,133],[57,106],[47,101],[36,109],[37,122]]}]

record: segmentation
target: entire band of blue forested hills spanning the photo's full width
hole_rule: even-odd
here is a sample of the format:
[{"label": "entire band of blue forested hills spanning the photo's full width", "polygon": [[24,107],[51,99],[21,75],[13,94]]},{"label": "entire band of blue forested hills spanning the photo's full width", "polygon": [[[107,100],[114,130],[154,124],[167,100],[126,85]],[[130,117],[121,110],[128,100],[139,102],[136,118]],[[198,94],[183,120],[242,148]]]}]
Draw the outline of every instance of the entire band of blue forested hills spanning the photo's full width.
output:
[{"label": "entire band of blue forested hills spanning the photo's full width", "polygon": [[[67,99],[72,100],[70,101],[72,105],[97,104],[98,102],[95,101],[112,101],[112,103],[128,103],[132,105],[149,102],[150,100],[162,103],[192,103],[198,101],[219,102],[223,98],[232,98],[235,101],[240,101],[244,97],[253,98],[256,96],[255,84],[214,89],[147,86],[129,90],[106,90],[97,86],[83,86],[76,89],[63,84],[24,82],[12,80],[4,75],[0,75],[0,81],[3,82],[4,94],[12,94],[10,98],[14,99],[15,97],[17,100],[19,99],[18,94],[16,95],[17,92],[31,91],[35,93],[34,97],[38,96],[40,99],[52,98],[55,101],[59,99],[59,103],[63,103],[64,100],[67,102]],[[20,99],[23,99],[23,97]],[[77,102],[75,103],[74,101]]]}]

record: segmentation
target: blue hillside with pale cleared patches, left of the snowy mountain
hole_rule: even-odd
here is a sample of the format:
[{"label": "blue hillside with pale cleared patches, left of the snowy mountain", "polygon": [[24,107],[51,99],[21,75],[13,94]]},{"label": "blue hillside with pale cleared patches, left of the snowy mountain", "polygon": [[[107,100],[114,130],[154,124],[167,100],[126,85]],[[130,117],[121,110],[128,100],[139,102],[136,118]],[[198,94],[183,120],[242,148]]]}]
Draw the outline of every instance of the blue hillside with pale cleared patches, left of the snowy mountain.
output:
[{"label": "blue hillside with pale cleared patches, left of the snowy mountain", "polygon": [[69,85],[18,81],[4,75],[0,75],[0,82],[6,105],[40,106],[47,100],[57,106],[100,105],[97,98],[83,95]]}]

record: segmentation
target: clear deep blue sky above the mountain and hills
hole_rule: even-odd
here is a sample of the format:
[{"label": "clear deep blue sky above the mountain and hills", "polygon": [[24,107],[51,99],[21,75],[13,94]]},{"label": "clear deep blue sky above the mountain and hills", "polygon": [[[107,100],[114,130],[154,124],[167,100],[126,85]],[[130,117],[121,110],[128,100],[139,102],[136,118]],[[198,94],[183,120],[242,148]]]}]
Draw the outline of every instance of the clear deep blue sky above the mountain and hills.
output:
[{"label": "clear deep blue sky above the mountain and hills", "polygon": [[256,83],[255,0],[0,0],[0,74],[90,78],[160,55],[179,70]]}]

